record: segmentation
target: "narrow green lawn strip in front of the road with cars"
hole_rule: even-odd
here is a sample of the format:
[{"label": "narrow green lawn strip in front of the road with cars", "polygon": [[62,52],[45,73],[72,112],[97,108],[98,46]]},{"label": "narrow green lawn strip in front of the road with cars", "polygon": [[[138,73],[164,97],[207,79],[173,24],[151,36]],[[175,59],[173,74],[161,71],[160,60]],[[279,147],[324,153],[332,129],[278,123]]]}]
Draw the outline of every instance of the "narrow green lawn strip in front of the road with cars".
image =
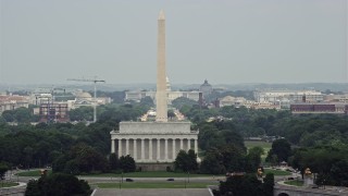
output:
[{"label": "narrow green lawn strip in front of the road with cars", "polygon": [[[99,188],[120,188],[120,183],[97,183]],[[217,185],[216,183],[186,183],[186,188],[206,188],[207,185]],[[124,182],[121,188],[185,188],[185,182]]]}]

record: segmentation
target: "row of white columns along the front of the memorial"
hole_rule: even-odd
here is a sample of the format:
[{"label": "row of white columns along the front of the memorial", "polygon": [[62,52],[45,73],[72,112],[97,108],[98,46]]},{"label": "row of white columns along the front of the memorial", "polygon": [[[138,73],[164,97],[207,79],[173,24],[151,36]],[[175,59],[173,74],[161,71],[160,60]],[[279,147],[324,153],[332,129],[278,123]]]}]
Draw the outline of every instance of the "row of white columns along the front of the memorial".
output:
[{"label": "row of white columns along the front of the memorial", "polygon": [[192,149],[192,140],[197,154],[197,138],[116,138],[111,139],[111,152],[130,155],[138,162],[174,161],[181,149]]}]

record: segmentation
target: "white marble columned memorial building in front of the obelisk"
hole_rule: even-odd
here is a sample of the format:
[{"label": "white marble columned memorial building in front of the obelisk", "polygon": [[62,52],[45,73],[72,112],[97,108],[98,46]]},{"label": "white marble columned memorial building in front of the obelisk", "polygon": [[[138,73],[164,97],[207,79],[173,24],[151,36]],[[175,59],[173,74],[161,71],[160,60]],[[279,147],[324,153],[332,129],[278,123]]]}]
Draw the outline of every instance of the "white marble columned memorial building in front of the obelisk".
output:
[{"label": "white marble columned memorial building in front of the obelisk", "polygon": [[120,131],[110,133],[111,152],[136,162],[173,162],[181,149],[197,152],[198,133],[190,122],[121,122]]}]

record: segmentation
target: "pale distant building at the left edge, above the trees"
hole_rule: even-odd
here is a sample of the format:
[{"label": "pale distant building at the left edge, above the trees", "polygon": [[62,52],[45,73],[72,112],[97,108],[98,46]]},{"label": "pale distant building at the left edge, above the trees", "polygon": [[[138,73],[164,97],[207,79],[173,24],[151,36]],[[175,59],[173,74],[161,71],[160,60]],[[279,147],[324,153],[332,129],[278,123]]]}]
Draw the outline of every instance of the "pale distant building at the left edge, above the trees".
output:
[{"label": "pale distant building at the left edge, above the trees", "polygon": [[21,107],[29,107],[29,98],[27,96],[0,95],[0,114],[7,110],[15,110]]}]

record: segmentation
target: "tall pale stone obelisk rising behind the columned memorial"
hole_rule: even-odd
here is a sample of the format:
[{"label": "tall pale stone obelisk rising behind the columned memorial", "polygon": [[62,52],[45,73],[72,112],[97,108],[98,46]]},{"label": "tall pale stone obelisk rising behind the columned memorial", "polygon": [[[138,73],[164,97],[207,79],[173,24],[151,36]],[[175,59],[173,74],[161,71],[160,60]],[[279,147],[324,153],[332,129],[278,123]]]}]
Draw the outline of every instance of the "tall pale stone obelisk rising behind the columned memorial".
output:
[{"label": "tall pale stone obelisk rising behind the columned memorial", "polygon": [[158,20],[158,51],[157,51],[157,93],[156,105],[157,115],[156,121],[167,122],[167,93],[166,93],[166,73],[165,73],[165,17],[161,10]]}]

